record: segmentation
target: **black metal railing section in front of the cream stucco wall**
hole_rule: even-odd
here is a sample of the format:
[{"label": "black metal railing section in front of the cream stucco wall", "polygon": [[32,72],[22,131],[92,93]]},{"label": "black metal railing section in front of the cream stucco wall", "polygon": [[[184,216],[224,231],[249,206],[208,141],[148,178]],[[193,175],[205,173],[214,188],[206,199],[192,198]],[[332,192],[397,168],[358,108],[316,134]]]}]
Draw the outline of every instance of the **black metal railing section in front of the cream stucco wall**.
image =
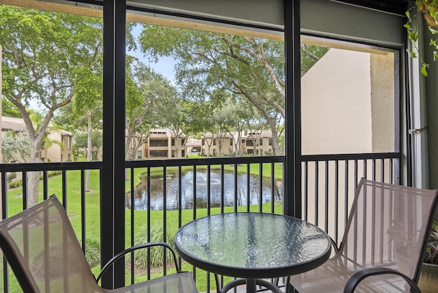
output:
[{"label": "black metal railing section in front of the cream stucco wall", "polygon": [[339,244],[360,179],[399,184],[400,160],[399,153],[303,156],[302,218]]}]

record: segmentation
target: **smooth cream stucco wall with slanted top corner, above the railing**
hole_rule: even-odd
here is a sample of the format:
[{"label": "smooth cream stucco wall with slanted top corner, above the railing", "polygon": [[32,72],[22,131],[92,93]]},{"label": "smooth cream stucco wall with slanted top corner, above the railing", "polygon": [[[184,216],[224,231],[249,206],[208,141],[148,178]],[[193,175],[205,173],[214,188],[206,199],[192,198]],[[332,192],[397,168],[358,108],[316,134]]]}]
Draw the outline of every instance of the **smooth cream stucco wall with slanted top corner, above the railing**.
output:
[{"label": "smooth cream stucco wall with slanted top corner, above the railing", "polygon": [[301,82],[304,155],[372,151],[369,53],[330,49]]}]

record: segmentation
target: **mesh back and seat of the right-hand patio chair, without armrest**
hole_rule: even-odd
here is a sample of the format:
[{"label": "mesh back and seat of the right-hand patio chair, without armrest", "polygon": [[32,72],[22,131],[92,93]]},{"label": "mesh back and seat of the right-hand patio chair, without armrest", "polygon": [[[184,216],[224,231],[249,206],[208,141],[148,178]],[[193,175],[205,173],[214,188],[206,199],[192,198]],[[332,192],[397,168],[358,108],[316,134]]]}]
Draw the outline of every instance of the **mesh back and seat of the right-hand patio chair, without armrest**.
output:
[{"label": "mesh back and seat of the right-hand patio chair, without armrest", "polygon": [[420,292],[436,210],[437,190],[361,179],[335,256],[289,282],[300,293]]}]

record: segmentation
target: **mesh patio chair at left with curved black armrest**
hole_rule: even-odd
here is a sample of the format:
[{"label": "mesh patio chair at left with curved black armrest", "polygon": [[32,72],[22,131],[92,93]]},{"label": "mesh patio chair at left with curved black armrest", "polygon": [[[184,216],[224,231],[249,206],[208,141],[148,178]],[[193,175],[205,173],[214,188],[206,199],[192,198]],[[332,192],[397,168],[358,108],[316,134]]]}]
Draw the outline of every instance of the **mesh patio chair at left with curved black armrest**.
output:
[{"label": "mesh patio chair at left with curved black armrest", "polygon": [[192,274],[179,271],[177,257],[165,242],[133,246],[113,257],[103,270],[125,253],[157,245],[172,251],[177,273],[105,290],[92,275],[56,196],[0,222],[1,250],[24,292],[198,292]]}]

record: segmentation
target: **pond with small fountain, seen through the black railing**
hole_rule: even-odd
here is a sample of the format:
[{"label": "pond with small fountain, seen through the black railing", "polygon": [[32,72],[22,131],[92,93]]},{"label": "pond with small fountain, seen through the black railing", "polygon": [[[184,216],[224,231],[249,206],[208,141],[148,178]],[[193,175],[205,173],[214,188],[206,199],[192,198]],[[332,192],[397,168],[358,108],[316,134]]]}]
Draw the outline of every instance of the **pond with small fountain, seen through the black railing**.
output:
[{"label": "pond with small fountain, seen through the black railing", "polygon": [[[210,173],[210,207],[220,207],[222,184],[220,171],[211,170]],[[250,175],[249,177],[249,203],[256,205],[269,203],[272,201],[272,186],[270,179],[263,179],[261,191],[261,202],[259,193],[259,177]],[[237,175],[237,205],[247,204],[248,176],[246,174]],[[224,172],[223,184],[224,206],[235,205],[234,173]],[[207,207],[207,172],[196,171],[196,208]],[[178,173],[167,173],[166,177],[166,209],[175,210],[179,207],[178,201],[179,180]],[[163,177],[151,178],[151,209],[162,210],[164,207],[164,180]],[[193,171],[185,172],[181,175],[181,209],[193,209],[194,206],[194,178]],[[273,199],[281,201],[283,186],[281,181],[274,185]],[[127,209],[131,208],[130,194],[127,194]],[[143,177],[140,186],[134,190],[134,209],[148,209],[148,188],[147,177]]]}]

